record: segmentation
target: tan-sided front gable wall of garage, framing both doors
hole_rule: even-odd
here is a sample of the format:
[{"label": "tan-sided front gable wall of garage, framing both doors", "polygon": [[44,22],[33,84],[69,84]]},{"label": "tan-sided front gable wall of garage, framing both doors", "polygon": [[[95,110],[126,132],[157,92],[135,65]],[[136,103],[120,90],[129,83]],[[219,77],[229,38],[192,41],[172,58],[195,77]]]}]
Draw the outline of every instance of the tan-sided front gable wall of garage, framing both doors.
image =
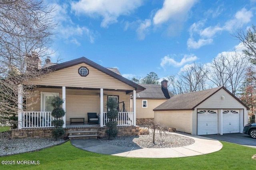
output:
[{"label": "tan-sided front gable wall of garage, framing both doors", "polygon": [[[222,95],[225,97],[224,99],[221,99]],[[247,108],[224,89],[220,89],[194,109],[192,112],[192,135],[197,134],[197,109],[240,109],[240,113],[244,112],[244,115],[241,116],[243,120],[240,121],[240,127],[247,124]]]}]

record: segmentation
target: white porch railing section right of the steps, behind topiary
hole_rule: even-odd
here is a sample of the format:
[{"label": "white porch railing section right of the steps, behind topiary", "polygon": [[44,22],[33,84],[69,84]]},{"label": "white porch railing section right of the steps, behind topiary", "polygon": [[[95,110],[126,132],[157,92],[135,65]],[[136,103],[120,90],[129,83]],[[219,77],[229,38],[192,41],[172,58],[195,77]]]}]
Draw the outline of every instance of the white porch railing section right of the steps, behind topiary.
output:
[{"label": "white porch railing section right of the steps, behind topiary", "polygon": [[[134,125],[134,112],[118,112],[118,117],[114,119],[117,121],[118,126],[132,126]],[[110,121],[107,117],[107,112],[103,112],[103,126],[106,126],[106,123]]]}]

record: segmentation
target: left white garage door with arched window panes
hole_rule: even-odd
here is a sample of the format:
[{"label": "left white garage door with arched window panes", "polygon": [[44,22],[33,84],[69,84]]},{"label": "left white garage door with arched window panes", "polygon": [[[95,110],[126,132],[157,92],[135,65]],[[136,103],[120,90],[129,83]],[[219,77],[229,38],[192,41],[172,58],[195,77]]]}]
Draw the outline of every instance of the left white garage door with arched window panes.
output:
[{"label": "left white garage door with arched window panes", "polygon": [[198,110],[197,135],[218,133],[218,110]]}]

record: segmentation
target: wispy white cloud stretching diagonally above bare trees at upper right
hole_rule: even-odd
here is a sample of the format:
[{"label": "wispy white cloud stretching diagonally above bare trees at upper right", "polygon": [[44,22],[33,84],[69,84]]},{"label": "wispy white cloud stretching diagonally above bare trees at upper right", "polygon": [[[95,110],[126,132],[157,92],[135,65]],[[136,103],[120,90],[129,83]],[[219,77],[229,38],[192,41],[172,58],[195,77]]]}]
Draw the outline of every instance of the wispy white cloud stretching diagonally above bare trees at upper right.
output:
[{"label": "wispy white cloud stretching diagonally above bare trees at upper right", "polygon": [[[198,49],[204,45],[211,44],[213,37],[221,31],[233,31],[234,29],[241,27],[242,25],[251,21],[253,17],[252,11],[242,8],[242,10],[236,12],[234,18],[226,21],[223,26],[220,24],[215,26],[204,27],[206,20],[198,21],[190,26],[190,38],[187,41],[188,48]],[[194,41],[194,36],[199,35],[198,41]]]}]

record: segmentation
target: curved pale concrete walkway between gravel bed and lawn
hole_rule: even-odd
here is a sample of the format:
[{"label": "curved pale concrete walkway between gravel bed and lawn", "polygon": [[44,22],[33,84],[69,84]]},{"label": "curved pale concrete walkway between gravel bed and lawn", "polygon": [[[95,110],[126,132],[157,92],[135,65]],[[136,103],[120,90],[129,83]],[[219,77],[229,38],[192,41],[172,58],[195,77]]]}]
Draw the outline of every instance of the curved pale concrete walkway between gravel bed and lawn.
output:
[{"label": "curved pale concrete walkway between gravel bed and lawn", "polygon": [[[181,135],[172,133],[172,135]],[[196,156],[208,154],[222,149],[222,143],[216,139],[196,135],[182,135],[195,140],[195,143],[186,147],[176,148],[140,148],[140,147],[118,147],[98,141],[97,139],[71,140],[71,144],[82,150],[115,156],[135,158],[177,158],[185,156]]]}]

